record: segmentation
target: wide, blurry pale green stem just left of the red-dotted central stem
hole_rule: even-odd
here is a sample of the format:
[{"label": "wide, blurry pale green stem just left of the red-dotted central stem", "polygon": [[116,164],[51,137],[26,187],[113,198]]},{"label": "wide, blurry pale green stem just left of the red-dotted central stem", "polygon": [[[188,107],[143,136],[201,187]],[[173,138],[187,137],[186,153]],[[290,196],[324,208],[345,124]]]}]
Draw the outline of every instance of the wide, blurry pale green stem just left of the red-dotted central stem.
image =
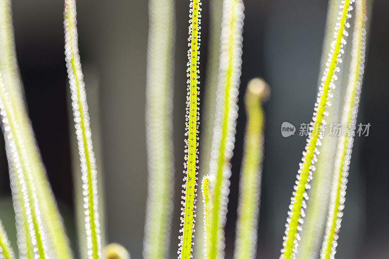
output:
[{"label": "wide, blurry pale green stem just left of the red-dotted central stem", "polygon": [[149,0],[146,86],[148,193],[143,240],[145,259],[164,259],[170,244],[174,156],[172,136],[173,0]]}]

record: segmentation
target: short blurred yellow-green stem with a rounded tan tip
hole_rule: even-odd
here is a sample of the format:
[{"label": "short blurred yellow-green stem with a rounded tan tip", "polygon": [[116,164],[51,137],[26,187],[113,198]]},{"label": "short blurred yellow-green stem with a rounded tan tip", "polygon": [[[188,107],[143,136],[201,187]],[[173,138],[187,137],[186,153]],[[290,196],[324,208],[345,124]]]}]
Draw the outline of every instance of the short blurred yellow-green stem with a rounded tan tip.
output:
[{"label": "short blurred yellow-green stem with a rounded tan tip", "polygon": [[268,86],[261,79],[248,83],[246,91],[246,133],[239,182],[238,219],[236,223],[235,259],[253,259],[257,250],[257,226],[261,195],[264,114],[262,100]]}]

